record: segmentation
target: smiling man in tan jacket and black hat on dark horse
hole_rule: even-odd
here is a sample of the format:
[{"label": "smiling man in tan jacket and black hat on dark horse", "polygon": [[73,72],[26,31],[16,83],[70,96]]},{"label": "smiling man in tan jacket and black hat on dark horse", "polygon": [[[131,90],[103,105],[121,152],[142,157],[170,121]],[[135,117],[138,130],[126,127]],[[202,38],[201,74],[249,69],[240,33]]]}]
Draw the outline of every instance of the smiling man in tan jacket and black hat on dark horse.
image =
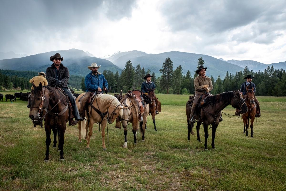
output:
[{"label": "smiling man in tan jacket and black hat on dark horse", "polygon": [[[204,94],[209,93],[212,90],[212,80],[210,77],[206,76],[206,69],[204,66],[200,66],[198,70],[196,70],[197,77],[194,78],[194,87],[195,87],[195,97],[192,104],[191,114],[190,114],[190,121],[196,123],[195,119],[195,110],[198,106],[198,101],[200,97]],[[223,118],[220,117],[219,122],[223,121]]]}]

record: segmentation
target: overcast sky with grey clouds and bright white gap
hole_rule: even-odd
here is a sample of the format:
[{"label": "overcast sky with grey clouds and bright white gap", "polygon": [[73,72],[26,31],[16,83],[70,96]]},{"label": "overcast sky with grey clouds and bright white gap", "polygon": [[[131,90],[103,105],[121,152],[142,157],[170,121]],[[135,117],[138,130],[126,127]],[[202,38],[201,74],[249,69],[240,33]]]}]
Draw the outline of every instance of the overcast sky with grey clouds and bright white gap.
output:
[{"label": "overcast sky with grey clouds and bright white gap", "polygon": [[82,49],[286,61],[286,3],[269,0],[0,0],[0,52]]}]

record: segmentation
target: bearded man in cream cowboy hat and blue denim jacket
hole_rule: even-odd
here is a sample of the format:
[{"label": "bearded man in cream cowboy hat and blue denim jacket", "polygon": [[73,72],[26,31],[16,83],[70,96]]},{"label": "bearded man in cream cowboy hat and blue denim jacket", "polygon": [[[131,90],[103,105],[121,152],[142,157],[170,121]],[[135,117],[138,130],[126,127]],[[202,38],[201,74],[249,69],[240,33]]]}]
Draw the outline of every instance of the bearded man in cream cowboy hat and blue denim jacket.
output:
[{"label": "bearded man in cream cowboy hat and blue denim jacket", "polygon": [[95,62],[92,63],[91,66],[88,66],[88,69],[90,69],[91,72],[86,75],[86,78],[84,80],[84,84],[86,86],[86,93],[84,94],[80,102],[81,121],[84,120],[86,103],[88,102],[91,94],[93,92],[102,93],[102,90],[106,91],[108,89],[107,80],[104,78],[103,74],[98,72],[98,68],[100,68],[100,66],[101,65],[97,66]]}]

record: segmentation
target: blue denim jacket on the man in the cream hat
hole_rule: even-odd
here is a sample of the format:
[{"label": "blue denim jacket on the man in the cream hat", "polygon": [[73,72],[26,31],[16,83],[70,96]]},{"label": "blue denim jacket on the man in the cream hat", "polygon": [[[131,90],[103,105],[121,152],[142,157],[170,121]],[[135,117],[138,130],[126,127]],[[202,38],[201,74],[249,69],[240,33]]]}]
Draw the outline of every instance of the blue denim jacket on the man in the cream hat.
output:
[{"label": "blue denim jacket on the man in the cream hat", "polygon": [[86,85],[86,92],[95,92],[98,90],[98,86],[102,89],[102,91],[103,87],[108,89],[107,80],[104,78],[103,74],[100,74],[99,72],[97,76],[92,74],[92,72],[88,73],[84,80],[84,84]]}]

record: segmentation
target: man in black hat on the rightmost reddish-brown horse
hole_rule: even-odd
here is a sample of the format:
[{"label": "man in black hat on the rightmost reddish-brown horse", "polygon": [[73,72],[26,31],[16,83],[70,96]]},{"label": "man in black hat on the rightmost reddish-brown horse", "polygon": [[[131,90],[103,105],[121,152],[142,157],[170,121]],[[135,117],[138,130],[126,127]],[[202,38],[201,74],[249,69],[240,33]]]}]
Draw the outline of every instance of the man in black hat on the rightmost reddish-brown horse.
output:
[{"label": "man in black hat on the rightmost reddish-brown horse", "polygon": [[[252,77],[251,75],[247,75],[244,79],[246,80],[245,82],[243,82],[243,84],[241,84],[241,89],[240,89],[240,94],[245,96],[247,94],[246,88],[247,89],[252,89],[255,93],[256,88],[255,88],[255,84],[252,82]],[[261,113],[260,113],[260,105],[259,105],[259,101],[257,100],[257,98],[255,97],[255,103],[256,103],[256,115],[255,117],[260,117]],[[239,116],[240,115],[240,110],[236,110],[235,115]]]}]

